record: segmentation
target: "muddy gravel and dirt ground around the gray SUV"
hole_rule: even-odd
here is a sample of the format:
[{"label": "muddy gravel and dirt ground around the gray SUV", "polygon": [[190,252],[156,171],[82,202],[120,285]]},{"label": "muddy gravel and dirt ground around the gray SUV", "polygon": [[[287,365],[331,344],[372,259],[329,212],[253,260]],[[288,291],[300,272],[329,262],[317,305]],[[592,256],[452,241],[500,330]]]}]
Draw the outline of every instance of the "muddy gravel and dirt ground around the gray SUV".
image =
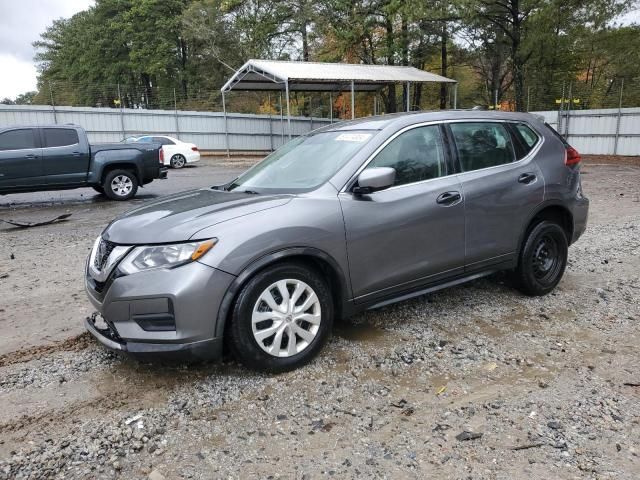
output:
[{"label": "muddy gravel and dirt ground around the gray SUV", "polygon": [[[83,264],[141,200],[0,197],[0,478],[640,478],[640,166],[587,161],[590,224],[557,290],[500,275],[367,312],[301,370],[148,365],[83,333]],[[465,433],[467,432],[467,433]]]}]

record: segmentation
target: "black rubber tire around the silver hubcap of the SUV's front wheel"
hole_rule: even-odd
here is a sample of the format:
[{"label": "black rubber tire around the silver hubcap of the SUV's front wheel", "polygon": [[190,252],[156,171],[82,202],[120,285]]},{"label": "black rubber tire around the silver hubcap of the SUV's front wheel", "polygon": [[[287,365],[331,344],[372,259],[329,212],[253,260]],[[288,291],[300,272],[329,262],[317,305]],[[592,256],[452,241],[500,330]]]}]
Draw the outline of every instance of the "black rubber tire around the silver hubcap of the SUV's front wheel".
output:
[{"label": "black rubber tire around the silver hubcap of the SUV's front wheel", "polygon": [[[320,321],[315,337],[313,337],[311,341],[305,342],[302,337],[294,335],[294,344],[296,344],[297,341],[299,341],[301,345],[306,343],[306,346],[303,347],[304,349],[291,356],[279,357],[263,349],[269,347],[265,345],[265,343],[269,341],[271,341],[271,346],[273,346],[277,335],[274,334],[271,337],[265,337],[263,346],[261,346],[254,337],[252,315],[254,313],[254,307],[257,309],[263,308],[260,307],[260,305],[263,304],[258,303],[262,294],[266,292],[270,286],[273,286],[275,282],[285,279],[303,282],[312,289],[319,301]],[[294,284],[287,285],[287,289],[291,288],[291,290],[293,290],[294,287]],[[276,295],[278,292],[279,290],[276,292]],[[289,291],[289,293],[293,295],[292,291]],[[310,295],[307,295],[307,291],[305,291],[295,305],[304,304],[305,299],[309,297]],[[280,301],[284,304],[283,298],[280,298]],[[309,310],[306,311],[308,312]],[[248,368],[273,373],[293,370],[310,362],[322,349],[331,334],[333,317],[333,299],[324,278],[316,270],[310,269],[302,264],[281,263],[257,273],[240,291],[231,314],[231,323],[227,328],[228,344],[235,358]],[[286,321],[292,323],[291,315],[288,316],[288,320],[279,321],[281,325]],[[265,320],[264,322],[267,322],[267,328],[276,326],[274,321]],[[311,323],[305,322],[304,320],[293,320],[293,323],[309,330],[313,328]],[[285,332],[292,331],[291,329],[285,330]],[[288,338],[287,333],[280,335],[280,339],[282,344],[285,345],[285,348],[289,346],[290,340],[288,340]]]}]

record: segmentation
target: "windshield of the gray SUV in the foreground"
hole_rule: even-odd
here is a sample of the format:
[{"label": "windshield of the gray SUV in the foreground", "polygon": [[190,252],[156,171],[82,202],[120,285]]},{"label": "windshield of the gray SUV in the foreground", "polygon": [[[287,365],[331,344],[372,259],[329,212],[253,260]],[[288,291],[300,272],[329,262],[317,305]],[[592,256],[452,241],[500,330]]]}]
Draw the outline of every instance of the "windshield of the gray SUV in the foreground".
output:
[{"label": "windshield of the gray SUV in the foreground", "polygon": [[338,131],[298,137],[240,175],[227,190],[248,193],[313,190],[340,170],[375,133]]}]

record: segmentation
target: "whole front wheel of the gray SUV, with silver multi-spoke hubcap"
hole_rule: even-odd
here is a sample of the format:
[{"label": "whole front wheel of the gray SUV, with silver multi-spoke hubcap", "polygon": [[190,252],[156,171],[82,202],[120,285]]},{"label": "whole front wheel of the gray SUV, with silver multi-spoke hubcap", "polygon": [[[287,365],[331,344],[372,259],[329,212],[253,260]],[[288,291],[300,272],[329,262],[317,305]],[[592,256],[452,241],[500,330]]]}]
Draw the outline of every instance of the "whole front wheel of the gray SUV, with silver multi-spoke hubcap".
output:
[{"label": "whole front wheel of the gray SUV, with silver multi-spoke hubcap", "polygon": [[322,349],[333,315],[331,293],[317,271],[297,263],[275,265],[256,274],[238,295],[229,345],[254,370],[293,370]]}]

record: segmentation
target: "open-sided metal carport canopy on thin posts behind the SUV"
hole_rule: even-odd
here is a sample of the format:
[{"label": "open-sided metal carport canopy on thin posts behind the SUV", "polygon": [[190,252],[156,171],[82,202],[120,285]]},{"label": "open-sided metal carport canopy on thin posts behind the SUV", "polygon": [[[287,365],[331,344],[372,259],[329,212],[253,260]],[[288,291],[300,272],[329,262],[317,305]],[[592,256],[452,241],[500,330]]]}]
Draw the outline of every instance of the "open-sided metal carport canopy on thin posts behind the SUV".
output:
[{"label": "open-sided metal carport canopy on thin posts behind the SUV", "polygon": [[[330,92],[331,94],[331,92],[349,89],[351,90],[351,118],[355,118],[355,92],[377,91],[392,83],[407,85],[407,111],[410,110],[408,93],[412,83],[453,83],[453,108],[457,106],[458,83],[456,80],[415,67],[251,59],[240,67],[220,89],[225,118],[227,155],[229,138],[225,92],[234,89],[284,91],[287,103],[287,126],[289,138],[291,138],[289,92]],[[329,101],[333,103],[331,98]]]}]

